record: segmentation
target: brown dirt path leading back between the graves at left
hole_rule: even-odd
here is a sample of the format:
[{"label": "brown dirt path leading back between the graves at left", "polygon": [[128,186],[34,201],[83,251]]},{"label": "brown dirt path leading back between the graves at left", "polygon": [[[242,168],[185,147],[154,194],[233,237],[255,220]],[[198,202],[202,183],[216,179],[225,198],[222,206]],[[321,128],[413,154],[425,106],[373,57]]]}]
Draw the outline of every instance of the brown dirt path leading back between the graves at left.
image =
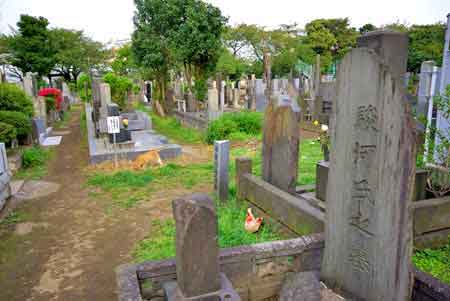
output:
[{"label": "brown dirt path leading back between the graves at left", "polygon": [[115,300],[114,269],[132,261],[136,242],[151,231],[153,218],[170,216],[170,200],[187,191],[164,192],[128,210],[105,210],[92,200],[83,169],[79,112],[70,134],[50,162],[44,180],[61,189],[16,209],[26,222],[0,232],[0,300]]}]

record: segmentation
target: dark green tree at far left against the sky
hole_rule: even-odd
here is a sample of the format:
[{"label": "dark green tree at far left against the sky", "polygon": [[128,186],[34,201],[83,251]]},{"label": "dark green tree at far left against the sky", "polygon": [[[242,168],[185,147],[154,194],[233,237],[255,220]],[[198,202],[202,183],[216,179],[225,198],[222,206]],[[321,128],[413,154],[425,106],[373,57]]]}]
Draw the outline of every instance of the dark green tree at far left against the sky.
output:
[{"label": "dark green tree at far left against the sky", "polygon": [[8,49],[11,64],[22,73],[36,72],[48,76],[55,65],[56,50],[52,47],[48,20],[43,17],[21,15],[18,33],[11,37]]}]

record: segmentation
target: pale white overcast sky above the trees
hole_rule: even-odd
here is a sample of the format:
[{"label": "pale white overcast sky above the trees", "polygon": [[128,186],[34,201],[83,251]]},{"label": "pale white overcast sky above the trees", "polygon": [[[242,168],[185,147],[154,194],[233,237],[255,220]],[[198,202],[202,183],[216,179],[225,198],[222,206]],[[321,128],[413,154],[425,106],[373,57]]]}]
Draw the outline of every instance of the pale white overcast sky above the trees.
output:
[{"label": "pale white overcast sky above the trees", "polygon": [[[355,27],[396,21],[428,24],[445,21],[450,0],[208,0],[231,24],[267,27],[317,18],[349,17]],[[0,32],[15,27],[21,14],[44,16],[52,27],[82,29],[108,42],[128,39],[133,31],[133,0],[0,0]]]}]

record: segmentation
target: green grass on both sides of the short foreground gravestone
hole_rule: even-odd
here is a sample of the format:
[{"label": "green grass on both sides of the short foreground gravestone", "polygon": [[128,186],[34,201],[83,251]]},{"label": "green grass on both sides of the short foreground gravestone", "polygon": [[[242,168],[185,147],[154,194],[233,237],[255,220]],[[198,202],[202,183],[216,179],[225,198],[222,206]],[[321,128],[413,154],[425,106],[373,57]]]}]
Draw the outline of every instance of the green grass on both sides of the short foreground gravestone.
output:
[{"label": "green grass on both sides of the short foreground gravestone", "polygon": [[[232,198],[228,203],[217,202],[219,226],[219,246],[231,248],[261,242],[283,239],[268,224],[263,224],[260,231],[250,234],[244,229],[247,207]],[[174,220],[154,221],[151,235],[140,241],[133,252],[136,262],[162,260],[175,256],[175,222]]]}]

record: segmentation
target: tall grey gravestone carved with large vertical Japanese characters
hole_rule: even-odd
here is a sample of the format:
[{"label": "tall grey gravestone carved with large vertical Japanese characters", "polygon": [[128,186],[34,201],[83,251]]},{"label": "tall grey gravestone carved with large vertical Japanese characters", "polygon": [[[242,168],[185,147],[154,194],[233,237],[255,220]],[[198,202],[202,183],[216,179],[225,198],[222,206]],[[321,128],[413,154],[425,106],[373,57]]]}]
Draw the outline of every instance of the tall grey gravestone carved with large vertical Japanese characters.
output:
[{"label": "tall grey gravestone carved with large vertical Japanese characters", "polygon": [[337,78],[322,278],[356,298],[410,300],[416,137],[403,82],[367,48]]}]

